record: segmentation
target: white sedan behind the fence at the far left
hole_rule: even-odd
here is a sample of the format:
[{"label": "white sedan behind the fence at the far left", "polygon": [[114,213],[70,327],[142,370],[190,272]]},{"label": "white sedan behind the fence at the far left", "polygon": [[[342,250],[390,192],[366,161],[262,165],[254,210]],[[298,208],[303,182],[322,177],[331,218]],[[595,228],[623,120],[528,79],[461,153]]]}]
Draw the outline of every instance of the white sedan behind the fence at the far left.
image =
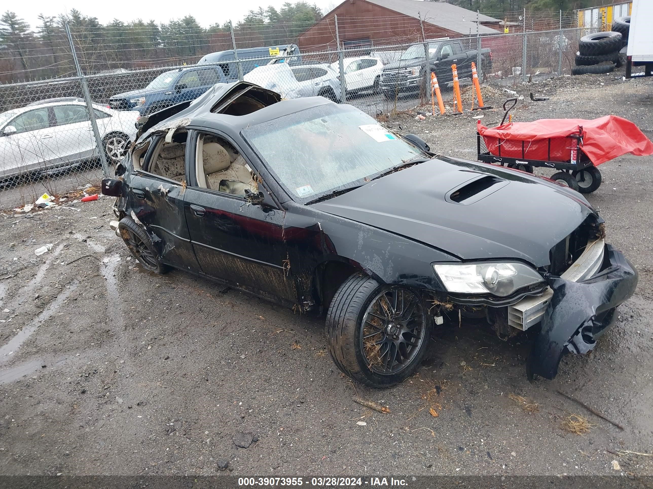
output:
[{"label": "white sedan behind the fence at the far left", "polygon": [[[137,111],[93,104],[109,164],[122,159],[136,137]],[[59,100],[0,113],[0,179],[65,169],[99,156],[86,104]]]}]

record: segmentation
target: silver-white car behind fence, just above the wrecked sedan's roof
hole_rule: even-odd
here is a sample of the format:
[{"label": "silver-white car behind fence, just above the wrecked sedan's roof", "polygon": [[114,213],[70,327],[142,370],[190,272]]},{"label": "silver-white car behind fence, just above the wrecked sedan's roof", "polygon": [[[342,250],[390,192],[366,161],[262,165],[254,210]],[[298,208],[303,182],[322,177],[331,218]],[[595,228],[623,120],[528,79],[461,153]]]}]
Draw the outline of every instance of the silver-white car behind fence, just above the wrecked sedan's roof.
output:
[{"label": "silver-white car behind fence, just above the wrecked sedan's roof", "polygon": [[274,63],[254,68],[244,80],[274,90],[283,98],[321,95],[334,102],[340,100],[340,80],[329,65]]}]

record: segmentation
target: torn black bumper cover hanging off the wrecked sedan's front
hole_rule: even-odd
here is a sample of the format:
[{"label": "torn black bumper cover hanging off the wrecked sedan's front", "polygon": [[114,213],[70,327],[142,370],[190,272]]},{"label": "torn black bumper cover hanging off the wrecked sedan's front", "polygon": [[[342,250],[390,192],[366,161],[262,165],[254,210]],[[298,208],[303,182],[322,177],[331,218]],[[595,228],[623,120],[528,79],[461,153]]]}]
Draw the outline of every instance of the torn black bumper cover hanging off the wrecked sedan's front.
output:
[{"label": "torn black bumper cover hanging off the wrecked sedan's front", "polygon": [[605,250],[609,265],[582,282],[547,278],[553,297],[526,362],[528,379],[534,374],[552,379],[565,353],[591,351],[597,336],[616,320],[614,309],[635,292],[633,265],[611,245],[606,244]]}]

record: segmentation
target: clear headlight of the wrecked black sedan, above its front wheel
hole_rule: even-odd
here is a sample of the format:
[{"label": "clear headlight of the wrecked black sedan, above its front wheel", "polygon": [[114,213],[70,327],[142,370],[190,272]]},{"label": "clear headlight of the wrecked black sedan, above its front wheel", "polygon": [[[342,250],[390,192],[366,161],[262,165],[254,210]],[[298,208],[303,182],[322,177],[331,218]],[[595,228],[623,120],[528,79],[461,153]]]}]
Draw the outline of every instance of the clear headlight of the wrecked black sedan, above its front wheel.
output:
[{"label": "clear headlight of the wrecked black sedan, above its front wheel", "polygon": [[524,263],[470,263],[433,265],[449,292],[505,297],[518,289],[544,282],[542,276]]}]

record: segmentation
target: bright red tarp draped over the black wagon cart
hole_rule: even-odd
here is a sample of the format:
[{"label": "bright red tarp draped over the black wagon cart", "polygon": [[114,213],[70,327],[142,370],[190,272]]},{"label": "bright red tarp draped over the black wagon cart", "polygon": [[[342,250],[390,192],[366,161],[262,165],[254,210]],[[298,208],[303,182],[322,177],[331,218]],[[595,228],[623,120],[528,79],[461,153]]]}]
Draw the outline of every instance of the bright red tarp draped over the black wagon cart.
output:
[{"label": "bright red tarp draped over the black wagon cart", "polygon": [[[487,128],[478,121],[478,131],[490,154],[532,160],[569,161],[575,147],[574,134],[582,127],[581,149],[594,165],[617,156],[653,155],[653,143],[630,121],[606,115],[593,121],[585,119],[539,119],[530,123],[508,123]],[[549,138],[551,145],[549,150]],[[522,141],[524,154],[522,155]],[[550,151],[550,158],[549,156]]]}]

